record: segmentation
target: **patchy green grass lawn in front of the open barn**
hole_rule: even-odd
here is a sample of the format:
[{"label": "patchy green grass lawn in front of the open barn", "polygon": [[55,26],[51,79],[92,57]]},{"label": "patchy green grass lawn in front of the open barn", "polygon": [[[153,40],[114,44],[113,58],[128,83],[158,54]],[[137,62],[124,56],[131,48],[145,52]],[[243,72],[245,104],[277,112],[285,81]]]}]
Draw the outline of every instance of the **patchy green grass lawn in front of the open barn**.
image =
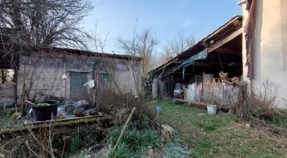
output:
[{"label": "patchy green grass lawn in front of the open barn", "polygon": [[173,127],[194,157],[287,157],[286,134],[250,127],[231,113],[208,115],[207,110],[172,101],[162,106],[162,124]]}]

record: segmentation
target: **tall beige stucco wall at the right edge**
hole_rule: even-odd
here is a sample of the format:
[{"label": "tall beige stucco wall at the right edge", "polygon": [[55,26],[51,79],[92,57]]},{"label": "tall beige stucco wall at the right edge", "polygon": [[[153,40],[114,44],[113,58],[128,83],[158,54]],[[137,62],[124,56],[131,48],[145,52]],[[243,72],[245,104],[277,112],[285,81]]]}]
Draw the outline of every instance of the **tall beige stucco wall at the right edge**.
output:
[{"label": "tall beige stucco wall at the right edge", "polygon": [[[263,90],[263,84],[266,81],[274,84],[277,90],[277,104],[280,108],[286,108],[287,99],[287,58],[284,59],[284,40],[286,41],[286,23],[284,19],[287,14],[283,14],[282,10],[287,10],[286,5],[282,2],[286,0],[258,0],[256,4],[256,36],[254,47],[254,78],[249,81],[246,78],[246,48],[245,42],[242,45],[243,53],[243,77],[245,81],[249,81],[254,90]],[[242,5],[243,24],[245,26],[247,20],[247,10],[245,4]],[[243,41],[245,37],[243,35]]]}]

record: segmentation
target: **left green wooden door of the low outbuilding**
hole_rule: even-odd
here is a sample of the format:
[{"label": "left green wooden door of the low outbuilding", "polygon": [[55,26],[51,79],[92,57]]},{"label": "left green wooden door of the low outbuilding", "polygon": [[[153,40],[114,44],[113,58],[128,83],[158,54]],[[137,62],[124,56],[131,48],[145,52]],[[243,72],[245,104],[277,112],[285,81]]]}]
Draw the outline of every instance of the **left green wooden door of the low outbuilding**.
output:
[{"label": "left green wooden door of the low outbuilding", "polygon": [[88,90],[84,84],[88,81],[88,73],[71,72],[70,79],[70,100],[86,100]]}]

